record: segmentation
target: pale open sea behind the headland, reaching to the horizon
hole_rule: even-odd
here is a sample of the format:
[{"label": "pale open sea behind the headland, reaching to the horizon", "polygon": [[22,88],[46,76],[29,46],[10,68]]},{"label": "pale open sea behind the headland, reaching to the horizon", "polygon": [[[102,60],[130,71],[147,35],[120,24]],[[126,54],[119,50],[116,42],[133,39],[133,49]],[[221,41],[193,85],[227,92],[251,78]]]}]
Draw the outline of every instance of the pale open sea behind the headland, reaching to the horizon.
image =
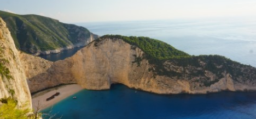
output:
[{"label": "pale open sea behind the headland, reaching to the horizon", "polygon": [[77,23],[97,35],[147,36],[191,55],[219,54],[256,67],[256,19]]}]

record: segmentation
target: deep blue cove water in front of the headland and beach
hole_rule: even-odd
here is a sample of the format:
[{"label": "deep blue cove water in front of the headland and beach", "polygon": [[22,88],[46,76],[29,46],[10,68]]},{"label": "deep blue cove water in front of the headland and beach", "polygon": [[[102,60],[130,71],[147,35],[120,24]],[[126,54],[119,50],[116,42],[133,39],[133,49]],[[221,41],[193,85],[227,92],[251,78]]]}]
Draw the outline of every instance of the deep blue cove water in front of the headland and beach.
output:
[{"label": "deep blue cove water in front of the headland and beach", "polygon": [[82,90],[73,96],[55,104],[51,114],[62,119],[256,118],[256,92],[156,95],[116,84],[110,90]]}]

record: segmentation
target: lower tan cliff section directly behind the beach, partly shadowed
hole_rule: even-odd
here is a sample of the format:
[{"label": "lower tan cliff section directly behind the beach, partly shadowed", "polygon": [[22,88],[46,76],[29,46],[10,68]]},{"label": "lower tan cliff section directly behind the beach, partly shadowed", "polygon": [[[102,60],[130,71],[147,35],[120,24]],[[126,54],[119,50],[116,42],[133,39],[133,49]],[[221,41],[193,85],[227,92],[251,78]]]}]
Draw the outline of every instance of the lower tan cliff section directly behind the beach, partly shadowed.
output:
[{"label": "lower tan cliff section directly behind the beach, partly shadowed", "polygon": [[62,60],[51,62],[22,52],[20,58],[31,93],[60,84],[76,83],[69,62]]}]

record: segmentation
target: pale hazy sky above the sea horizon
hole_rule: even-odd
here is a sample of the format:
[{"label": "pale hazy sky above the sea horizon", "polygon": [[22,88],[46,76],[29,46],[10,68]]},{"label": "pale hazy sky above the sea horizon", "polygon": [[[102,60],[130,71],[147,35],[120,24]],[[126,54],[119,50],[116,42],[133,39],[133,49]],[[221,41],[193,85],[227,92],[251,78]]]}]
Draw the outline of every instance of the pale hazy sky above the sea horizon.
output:
[{"label": "pale hazy sky above the sea horizon", "polygon": [[255,17],[256,0],[0,0],[0,10],[69,23]]}]

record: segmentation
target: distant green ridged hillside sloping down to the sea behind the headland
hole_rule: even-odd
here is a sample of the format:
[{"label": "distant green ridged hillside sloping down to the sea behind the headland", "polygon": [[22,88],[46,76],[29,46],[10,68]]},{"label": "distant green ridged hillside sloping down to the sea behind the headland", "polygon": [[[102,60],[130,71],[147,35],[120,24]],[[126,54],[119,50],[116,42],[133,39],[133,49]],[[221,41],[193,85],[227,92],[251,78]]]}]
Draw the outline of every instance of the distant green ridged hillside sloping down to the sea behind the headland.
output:
[{"label": "distant green ridged hillside sloping down to the sea behind the headland", "polygon": [[7,23],[16,48],[26,53],[57,53],[63,49],[85,46],[98,37],[84,27],[44,16],[0,11],[0,17]]}]

